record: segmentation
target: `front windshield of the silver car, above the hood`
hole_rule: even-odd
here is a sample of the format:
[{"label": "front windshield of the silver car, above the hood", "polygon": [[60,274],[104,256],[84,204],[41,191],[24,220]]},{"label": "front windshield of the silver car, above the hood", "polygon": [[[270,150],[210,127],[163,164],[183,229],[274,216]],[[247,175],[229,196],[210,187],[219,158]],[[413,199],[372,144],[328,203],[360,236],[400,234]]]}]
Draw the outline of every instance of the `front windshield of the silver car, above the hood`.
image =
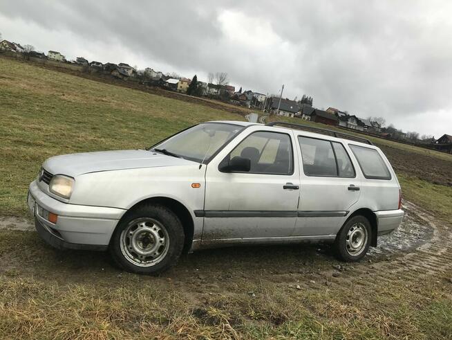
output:
[{"label": "front windshield of the silver car, above the hood", "polygon": [[207,163],[244,127],[227,123],[202,123],[182,131],[151,147],[150,151]]}]

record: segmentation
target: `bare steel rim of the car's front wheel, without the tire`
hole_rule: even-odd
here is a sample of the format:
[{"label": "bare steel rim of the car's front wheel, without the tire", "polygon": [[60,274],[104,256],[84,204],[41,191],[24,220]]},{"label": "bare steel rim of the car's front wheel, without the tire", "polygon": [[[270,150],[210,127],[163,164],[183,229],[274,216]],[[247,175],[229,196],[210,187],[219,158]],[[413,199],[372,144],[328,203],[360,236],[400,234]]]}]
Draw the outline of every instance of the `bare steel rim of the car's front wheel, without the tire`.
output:
[{"label": "bare steel rim of the car's front wheel, without the tire", "polygon": [[168,231],[150,217],[133,220],[121,233],[120,248],[124,258],[133,265],[152,267],[168,253]]}]

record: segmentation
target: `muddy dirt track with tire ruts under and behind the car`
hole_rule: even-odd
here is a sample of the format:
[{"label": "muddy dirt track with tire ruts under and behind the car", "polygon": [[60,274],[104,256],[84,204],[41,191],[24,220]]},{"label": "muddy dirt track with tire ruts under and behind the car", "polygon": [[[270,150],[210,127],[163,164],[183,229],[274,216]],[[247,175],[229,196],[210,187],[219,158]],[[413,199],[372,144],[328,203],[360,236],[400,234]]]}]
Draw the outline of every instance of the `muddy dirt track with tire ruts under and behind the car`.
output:
[{"label": "muddy dirt track with tire ruts under and behind the car", "polygon": [[[341,285],[343,280],[369,276],[411,280],[435,272],[451,272],[451,226],[437,222],[433,215],[410,202],[404,202],[404,210],[406,216],[399,229],[380,237],[378,247],[371,248],[366,259],[356,264],[337,262],[328,246],[239,247],[190,254],[163,277],[220,289],[217,284],[224,278],[264,279],[295,287],[312,285],[312,281]],[[35,233],[29,220],[18,217],[0,217],[1,230]],[[227,267],[218,268],[220,258],[228,258]]]}]

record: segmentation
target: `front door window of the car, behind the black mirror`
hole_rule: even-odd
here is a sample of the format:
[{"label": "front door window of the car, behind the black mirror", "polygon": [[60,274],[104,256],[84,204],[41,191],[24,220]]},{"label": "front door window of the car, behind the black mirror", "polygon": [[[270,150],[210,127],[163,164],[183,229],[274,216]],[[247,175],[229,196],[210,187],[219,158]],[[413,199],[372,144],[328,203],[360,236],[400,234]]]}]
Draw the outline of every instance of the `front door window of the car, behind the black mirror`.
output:
[{"label": "front door window of the car, behind the black mirror", "polygon": [[292,142],[288,134],[254,132],[247,136],[224,161],[241,156],[251,161],[249,172],[268,175],[292,175]]}]

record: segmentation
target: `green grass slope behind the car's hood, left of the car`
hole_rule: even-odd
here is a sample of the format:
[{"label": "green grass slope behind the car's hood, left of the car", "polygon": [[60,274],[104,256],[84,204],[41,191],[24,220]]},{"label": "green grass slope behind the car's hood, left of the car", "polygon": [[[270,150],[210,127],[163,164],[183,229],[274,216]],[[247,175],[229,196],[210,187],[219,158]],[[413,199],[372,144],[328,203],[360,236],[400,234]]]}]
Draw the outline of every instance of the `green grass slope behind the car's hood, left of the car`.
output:
[{"label": "green grass slope behind the car's hood, left of the car", "polygon": [[49,156],[144,148],[205,120],[243,116],[0,60],[0,215],[23,215]]}]

